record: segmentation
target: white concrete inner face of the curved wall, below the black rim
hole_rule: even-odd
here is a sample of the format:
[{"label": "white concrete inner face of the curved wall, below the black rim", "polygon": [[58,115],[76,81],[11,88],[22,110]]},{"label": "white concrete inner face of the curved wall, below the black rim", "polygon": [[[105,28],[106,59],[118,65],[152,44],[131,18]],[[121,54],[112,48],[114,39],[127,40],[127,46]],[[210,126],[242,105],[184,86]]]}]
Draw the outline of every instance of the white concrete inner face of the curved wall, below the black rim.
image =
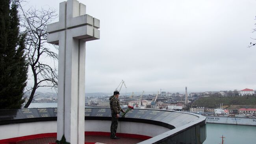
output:
[{"label": "white concrete inner face of the curved wall, below the black rim", "polygon": [[[111,121],[86,120],[85,131],[110,132]],[[129,133],[154,137],[170,129],[153,124],[119,121],[117,133]],[[0,125],[0,139],[10,139],[41,133],[56,133],[57,121],[26,122]]]}]

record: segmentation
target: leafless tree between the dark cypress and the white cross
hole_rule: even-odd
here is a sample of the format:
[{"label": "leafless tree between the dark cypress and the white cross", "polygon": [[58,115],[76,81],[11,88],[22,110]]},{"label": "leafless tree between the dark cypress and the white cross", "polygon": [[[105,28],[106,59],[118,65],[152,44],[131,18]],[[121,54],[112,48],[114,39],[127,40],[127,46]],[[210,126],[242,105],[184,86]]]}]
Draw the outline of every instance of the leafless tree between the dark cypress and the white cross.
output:
[{"label": "leafless tree between the dark cypress and the white cross", "polygon": [[[46,25],[51,23],[57,17],[56,10],[51,8],[41,8],[37,10],[30,7],[28,10],[22,8],[21,25],[27,33],[26,37],[26,62],[30,65],[33,73],[33,86],[27,88],[26,93],[29,94],[28,102],[24,108],[28,108],[35,97],[35,91],[39,87],[49,87],[56,90],[58,86],[58,74],[55,61],[58,61],[56,51],[58,47],[47,44]],[[54,61],[53,65],[47,63],[45,59]]]}]

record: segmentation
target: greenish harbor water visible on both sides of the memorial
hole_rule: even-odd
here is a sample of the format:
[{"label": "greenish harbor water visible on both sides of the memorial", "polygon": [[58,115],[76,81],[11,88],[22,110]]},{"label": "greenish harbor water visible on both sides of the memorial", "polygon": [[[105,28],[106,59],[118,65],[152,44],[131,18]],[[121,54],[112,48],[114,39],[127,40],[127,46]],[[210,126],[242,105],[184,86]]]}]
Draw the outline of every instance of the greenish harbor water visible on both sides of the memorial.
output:
[{"label": "greenish harbor water visible on both sides of the memorial", "polygon": [[[57,103],[31,103],[29,108],[56,108]],[[256,144],[256,126],[206,124],[207,138],[203,144]]]}]

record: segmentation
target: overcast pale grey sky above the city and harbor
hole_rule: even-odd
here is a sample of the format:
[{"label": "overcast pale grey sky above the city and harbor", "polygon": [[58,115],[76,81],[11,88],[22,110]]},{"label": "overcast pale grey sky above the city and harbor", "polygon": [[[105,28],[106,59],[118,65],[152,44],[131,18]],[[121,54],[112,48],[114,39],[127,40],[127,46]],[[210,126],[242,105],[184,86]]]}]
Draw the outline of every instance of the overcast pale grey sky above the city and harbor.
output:
[{"label": "overcast pale grey sky above the city and harbor", "polygon": [[[59,9],[64,0],[28,0]],[[255,0],[80,0],[100,19],[85,92],[256,89]],[[42,90],[41,90],[42,91]],[[121,92],[125,89],[122,88]]]}]

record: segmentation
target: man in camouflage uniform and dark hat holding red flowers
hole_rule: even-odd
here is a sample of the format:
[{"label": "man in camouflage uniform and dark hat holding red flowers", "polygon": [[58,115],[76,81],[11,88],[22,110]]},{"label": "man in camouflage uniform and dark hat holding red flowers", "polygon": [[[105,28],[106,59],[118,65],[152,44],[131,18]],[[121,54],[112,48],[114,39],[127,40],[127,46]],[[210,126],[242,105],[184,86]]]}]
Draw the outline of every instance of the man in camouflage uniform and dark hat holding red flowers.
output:
[{"label": "man in camouflage uniform and dark hat holding red flowers", "polygon": [[115,91],[114,95],[112,95],[111,97],[109,97],[109,105],[110,105],[110,109],[111,109],[111,117],[112,117],[112,122],[111,122],[111,127],[110,127],[110,131],[111,131],[111,135],[110,138],[111,139],[120,139],[119,137],[116,137],[116,133],[117,133],[117,124],[118,124],[118,118],[119,118],[119,113],[124,112],[124,110],[122,110],[120,103],[119,103],[119,92]]}]

